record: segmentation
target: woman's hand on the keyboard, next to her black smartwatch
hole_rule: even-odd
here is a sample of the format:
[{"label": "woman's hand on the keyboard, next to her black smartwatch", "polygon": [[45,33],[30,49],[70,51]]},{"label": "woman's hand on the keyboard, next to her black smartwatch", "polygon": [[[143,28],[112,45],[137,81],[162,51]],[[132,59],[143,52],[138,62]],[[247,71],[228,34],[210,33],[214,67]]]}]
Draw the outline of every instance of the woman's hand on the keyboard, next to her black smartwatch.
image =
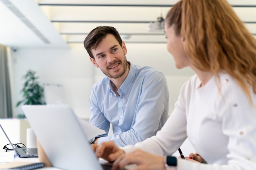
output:
[{"label": "woman's hand on the keyboard, next to her black smartwatch", "polygon": [[164,157],[152,155],[139,149],[118,157],[113,163],[112,170],[124,169],[126,165],[134,163],[137,165],[136,170],[165,170]]}]

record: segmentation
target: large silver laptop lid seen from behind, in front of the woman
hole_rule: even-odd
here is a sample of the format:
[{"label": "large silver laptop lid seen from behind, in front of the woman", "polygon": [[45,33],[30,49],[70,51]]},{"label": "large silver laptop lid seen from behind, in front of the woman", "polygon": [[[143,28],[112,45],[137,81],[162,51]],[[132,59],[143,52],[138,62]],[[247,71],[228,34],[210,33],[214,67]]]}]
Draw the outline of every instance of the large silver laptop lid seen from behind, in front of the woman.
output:
[{"label": "large silver laptop lid seen from behind, in front of the woman", "polygon": [[55,168],[103,170],[69,106],[25,105],[22,110]]}]

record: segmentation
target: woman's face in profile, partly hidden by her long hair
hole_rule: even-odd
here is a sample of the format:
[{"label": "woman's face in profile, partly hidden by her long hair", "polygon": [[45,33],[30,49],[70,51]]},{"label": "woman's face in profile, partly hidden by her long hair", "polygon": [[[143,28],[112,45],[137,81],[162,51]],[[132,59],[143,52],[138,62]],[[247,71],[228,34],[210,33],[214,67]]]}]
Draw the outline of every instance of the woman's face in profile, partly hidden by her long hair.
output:
[{"label": "woman's face in profile, partly hidden by her long hair", "polygon": [[167,50],[173,55],[175,66],[178,69],[190,66],[190,60],[184,50],[185,39],[182,35],[175,35],[173,26],[164,24],[164,32],[167,38]]}]

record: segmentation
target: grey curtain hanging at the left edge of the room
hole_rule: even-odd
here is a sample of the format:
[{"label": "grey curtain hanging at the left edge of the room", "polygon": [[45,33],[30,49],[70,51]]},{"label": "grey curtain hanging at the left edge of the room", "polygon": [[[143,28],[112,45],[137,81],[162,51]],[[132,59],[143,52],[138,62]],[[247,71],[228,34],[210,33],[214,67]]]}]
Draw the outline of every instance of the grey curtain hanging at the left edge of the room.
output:
[{"label": "grey curtain hanging at the left edge of the room", "polygon": [[13,117],[7,47],[0,44],[0,118]]}]

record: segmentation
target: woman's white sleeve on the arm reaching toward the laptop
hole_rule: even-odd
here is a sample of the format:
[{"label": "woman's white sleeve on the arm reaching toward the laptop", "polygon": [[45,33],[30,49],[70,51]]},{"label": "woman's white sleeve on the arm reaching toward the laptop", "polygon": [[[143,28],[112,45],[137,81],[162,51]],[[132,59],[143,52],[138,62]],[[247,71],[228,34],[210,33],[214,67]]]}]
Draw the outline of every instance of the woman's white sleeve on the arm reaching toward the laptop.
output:
[{"label": "woman's white sleeve on the arm reaching toward the laptop", "polygon": [[[184,85],[185,86],[185,85]],[[163,128],[153,137],[146,139],[135,146],[126,146],[123,150],[128,153],[139,148],[155,155],[173,155],[187,138],[186,135],[186,110],[184,102],[184,86],[180,91],[175,109],[164,124]]]}]

